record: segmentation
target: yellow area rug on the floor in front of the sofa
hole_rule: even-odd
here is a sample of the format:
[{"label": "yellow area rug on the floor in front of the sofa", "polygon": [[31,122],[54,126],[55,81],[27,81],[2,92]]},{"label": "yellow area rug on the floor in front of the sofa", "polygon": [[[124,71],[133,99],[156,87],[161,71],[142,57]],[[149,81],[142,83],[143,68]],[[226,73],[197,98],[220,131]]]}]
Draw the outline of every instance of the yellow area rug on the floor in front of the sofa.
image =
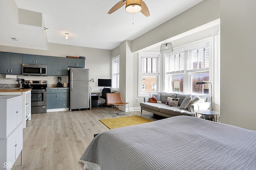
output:
[{"label": "yellow area rug on the floor in front of the sofa", "polygon": [[110,118],[110,119],[100,119],[99,121],[101,121],[106,127],[108,127],[108,129],[115,129],[118,127],[126,127],[126,126],[152,122],[152,120],[146,119],[138,115],[116,117],[116,118]]}]

